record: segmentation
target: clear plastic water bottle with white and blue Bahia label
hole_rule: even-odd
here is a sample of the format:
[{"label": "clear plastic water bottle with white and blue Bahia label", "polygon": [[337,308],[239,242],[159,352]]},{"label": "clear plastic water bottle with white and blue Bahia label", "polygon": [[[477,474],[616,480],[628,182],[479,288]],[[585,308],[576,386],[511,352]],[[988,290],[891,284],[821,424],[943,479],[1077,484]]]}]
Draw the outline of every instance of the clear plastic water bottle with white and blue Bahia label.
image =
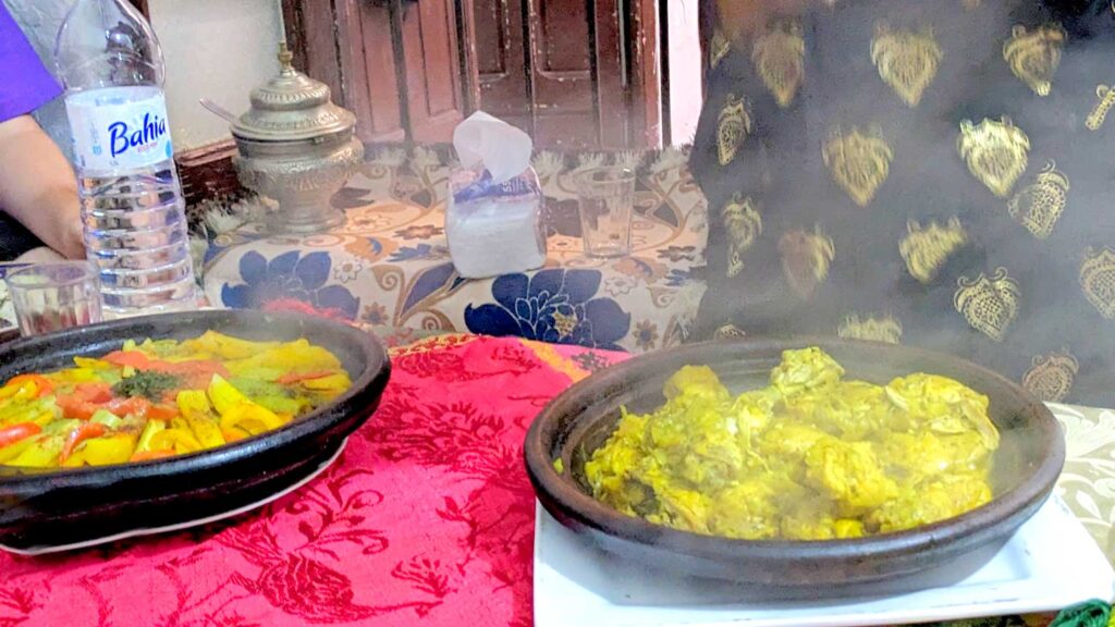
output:
[{"label": "clear plastic water bottle with white and blue Bahia label", "polygon": [[185,203],[163,95],[163,52],[125,0],[77,0],[55,49],[85,244],[107,314],[194,309]]}]

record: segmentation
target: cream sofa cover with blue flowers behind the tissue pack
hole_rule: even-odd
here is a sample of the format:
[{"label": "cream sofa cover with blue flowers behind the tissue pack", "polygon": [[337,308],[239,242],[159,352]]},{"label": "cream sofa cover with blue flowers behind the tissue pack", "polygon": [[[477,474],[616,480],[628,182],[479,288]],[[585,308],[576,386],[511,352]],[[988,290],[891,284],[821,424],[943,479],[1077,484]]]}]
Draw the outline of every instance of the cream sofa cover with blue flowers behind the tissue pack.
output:
[{"label": "cream sofa cover with blue flowers behind the tissue pack", "polygon": [[[377,330],[471,331],[644,351],[690,332],[705,283],[704,196],[680,152],[534,160],[546,195],[545,268],[467,280],[444,232],[445,151],[374,152],[333,202],[348,221],[328,233],[268,237],[256,221],[216,235],[204,272],[214,305],[299,309]],[[582,254],[570,177],[605,161],[640,173],[631,255]],[[643,162],[646,162],[643,164]]]}]

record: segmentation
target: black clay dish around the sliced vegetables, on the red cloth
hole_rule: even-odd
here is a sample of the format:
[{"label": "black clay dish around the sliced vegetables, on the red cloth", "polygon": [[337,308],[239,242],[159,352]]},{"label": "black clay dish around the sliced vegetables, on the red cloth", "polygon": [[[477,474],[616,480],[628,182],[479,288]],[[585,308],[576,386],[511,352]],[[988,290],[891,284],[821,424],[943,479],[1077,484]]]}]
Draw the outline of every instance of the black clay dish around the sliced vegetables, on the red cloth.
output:
[{"label": "black clay dish around the sliced vegetables, on the red cloth", "polygon": [[352,386],[291,423],[219,448],[123,465],[31,471],[0,465],[0,548],[37,553],[204,522],[265,502],[337,457],[390,377],[380,343],[324,318],[243,310],[116,320],[0,344],[0,382],[118,350],[127,339],[207,330],[258,341],[306,338],[341,361]]}]

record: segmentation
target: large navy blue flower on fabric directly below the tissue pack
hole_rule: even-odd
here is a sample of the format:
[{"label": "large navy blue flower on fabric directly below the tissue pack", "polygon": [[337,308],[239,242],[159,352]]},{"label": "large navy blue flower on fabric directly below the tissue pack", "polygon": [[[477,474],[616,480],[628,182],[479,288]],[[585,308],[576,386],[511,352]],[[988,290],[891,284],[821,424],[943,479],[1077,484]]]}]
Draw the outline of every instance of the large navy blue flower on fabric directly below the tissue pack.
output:
[{"label": "large navy blue flower on fabric directly below the tissue pack", "polygon": [[599,270],[503,276],[492,283],[495,302],[466,307],[465,324],[475,334],[622,350],[631,315],[610,298],[593,298],[600,282]]}]

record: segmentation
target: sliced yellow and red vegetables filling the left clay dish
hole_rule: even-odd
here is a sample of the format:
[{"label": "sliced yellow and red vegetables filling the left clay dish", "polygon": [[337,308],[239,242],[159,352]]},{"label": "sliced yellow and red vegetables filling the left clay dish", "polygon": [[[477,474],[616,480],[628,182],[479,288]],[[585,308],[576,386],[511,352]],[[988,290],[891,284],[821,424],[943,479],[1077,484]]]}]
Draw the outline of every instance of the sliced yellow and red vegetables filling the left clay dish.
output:
[{"label": "sliced yellow and red vegetables filling the left clay dish", "polygon": [[99,466],[215,448],[277,430],[350,386],[337,357],[306,339],[128,340],[0,387],[0,464]]}]

